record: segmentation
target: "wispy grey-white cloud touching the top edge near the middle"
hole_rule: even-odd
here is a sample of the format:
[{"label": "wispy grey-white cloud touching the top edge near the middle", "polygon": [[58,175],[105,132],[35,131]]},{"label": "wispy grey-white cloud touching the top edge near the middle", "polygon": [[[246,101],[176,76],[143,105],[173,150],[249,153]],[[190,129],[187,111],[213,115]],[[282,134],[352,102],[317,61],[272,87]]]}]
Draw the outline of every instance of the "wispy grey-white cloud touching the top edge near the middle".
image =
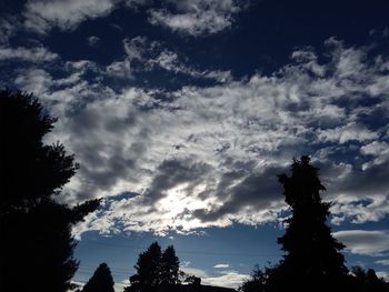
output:
[{"label": "wispy grey-white cloud touching the top edge near the middle", "polygon": [[193,37],[212,34],[230,28],[233,21],[232,16],[240,11],[235,0],[168,2],[174,3],[174,11],[150,9],[149,21],[154,26],[164,26],[172,31]]}]

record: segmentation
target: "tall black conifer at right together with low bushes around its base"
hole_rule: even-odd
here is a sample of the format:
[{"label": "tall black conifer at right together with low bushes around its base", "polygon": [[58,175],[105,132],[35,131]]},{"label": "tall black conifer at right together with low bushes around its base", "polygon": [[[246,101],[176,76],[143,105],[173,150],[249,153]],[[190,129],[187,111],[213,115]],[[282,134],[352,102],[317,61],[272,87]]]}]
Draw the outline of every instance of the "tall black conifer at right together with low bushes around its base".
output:
[{"label": "tall black conifer at right together with low bushes around its base", "polygon": [[287,230],[278,243],[286,251],[279,264],[253,270],[240,291],[388,291],[389,283],[371,269],[352,269],[351,276],[340,251],[345,245],[331,235],[327,225],[330,203],[321,201],[326,188],[309,157],[293,160],[291,177],[279,175],[286,202],[291,208]]}]

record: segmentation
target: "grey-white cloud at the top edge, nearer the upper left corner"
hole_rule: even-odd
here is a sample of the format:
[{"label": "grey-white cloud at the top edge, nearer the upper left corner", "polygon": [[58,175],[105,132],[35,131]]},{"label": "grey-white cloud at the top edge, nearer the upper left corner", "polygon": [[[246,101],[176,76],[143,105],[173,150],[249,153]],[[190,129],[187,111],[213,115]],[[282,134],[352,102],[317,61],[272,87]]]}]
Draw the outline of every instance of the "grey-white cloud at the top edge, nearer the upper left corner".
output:
[{"label": "grey-white cloud at the top edge, nearer the upper left corner", "polygon": [[48,33],[52,28],[72,30],[87,19],[109,14],[116,0],[29,0],[24,6],[24,27]]}]

